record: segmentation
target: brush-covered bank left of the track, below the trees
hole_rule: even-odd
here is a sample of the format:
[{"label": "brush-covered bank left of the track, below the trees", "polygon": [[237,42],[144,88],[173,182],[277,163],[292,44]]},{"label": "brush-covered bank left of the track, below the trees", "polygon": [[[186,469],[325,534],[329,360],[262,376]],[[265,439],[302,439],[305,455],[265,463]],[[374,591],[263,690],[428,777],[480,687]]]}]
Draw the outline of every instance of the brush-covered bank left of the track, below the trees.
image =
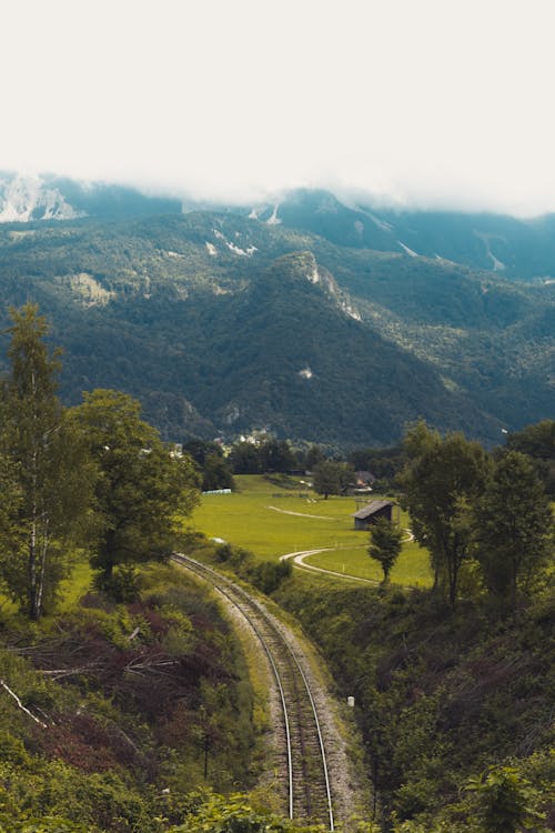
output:
[{"label": "brush-covered bank left of the track, below the trees", "polygon": [[[89,594],[39,626],[4,626],[2,680],[46,725],[0,690],[1,830],[160,833],[183,822],[195,784],[251,786],[253,695],[239,643],[176,569],[153,564],[139,579],[132,604]],[[24,659],[3,644],[16,640]]]}]

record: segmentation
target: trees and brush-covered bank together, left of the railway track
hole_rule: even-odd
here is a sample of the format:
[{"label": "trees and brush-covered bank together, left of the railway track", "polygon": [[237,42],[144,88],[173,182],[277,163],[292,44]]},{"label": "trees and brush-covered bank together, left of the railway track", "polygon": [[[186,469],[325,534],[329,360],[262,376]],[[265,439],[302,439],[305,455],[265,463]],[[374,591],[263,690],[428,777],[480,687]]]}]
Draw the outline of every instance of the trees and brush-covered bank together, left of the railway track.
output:
[{"label": "trees and brush-covered bank together, left of the railway track", "polygon": [[271,791],[259,787],[256,807],[235,795],[264,771],[264,674],[208,590],[167,563],[191,538],[192,459],[119,391],[63,408],[46,320],[32,304],[11,320],[0,383],[0,830],[290,829],[270,814]]}]

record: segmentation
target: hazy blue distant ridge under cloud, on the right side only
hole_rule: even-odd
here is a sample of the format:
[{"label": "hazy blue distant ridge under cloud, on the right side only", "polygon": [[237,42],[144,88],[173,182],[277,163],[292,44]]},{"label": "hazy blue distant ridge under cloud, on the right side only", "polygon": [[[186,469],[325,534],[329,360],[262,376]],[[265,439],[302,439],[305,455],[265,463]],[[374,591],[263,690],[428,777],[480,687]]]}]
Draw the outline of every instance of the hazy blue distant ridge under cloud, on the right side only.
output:
[{"label": "hazy blue distant ridge under cloud, on the right side only", "polygon": [[252,218],[302,229],[342,247],[452,261],[511,279],[555,278],[555,215],[533,220],[493,213],[407,211],[359,197],[300,189],[245,208]]}]

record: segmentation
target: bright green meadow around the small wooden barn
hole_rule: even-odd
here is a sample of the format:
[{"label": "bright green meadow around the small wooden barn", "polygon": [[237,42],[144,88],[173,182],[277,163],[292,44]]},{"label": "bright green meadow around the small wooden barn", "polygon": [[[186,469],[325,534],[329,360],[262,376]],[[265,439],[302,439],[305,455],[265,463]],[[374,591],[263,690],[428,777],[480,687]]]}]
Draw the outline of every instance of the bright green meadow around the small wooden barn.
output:
[{"label": "bright green meadow around the small wooden barn", "polygon": [[[380,565],[366,552],[369,534],[354,530],[351,515],[357,506],[353,498],[325,501],[303,483],[292,489],[291,480],[255,474],[238,475],[235,482],[238,491],[232,494],[203,495],[192,518],[196,530],[244,546],[264,561],[289,552],[332,548],[332,552],[309,556],[305,563],[381,580]],[[408,525],[403,512],[401,525]],[[391,579],[406,585],[430,585],[427,553],[414,542],[404,543]]]}]

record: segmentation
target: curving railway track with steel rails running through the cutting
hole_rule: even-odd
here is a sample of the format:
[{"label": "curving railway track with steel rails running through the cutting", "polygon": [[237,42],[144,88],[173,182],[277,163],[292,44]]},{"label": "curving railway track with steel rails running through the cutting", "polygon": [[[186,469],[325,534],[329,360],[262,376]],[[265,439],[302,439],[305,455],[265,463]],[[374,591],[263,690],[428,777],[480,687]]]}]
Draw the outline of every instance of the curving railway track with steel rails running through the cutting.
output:
[{"label": "curving railway track with steel rails running through the cutting", "polygon": [[246,619],[268,656],[281,702],[282,769],[287,784],[290,819],[325,824],[334,830],[330,775],[316,702],[296,654],[272,616],[241,586],[215,570],[180,553],[173,561],[209,581]]}]

